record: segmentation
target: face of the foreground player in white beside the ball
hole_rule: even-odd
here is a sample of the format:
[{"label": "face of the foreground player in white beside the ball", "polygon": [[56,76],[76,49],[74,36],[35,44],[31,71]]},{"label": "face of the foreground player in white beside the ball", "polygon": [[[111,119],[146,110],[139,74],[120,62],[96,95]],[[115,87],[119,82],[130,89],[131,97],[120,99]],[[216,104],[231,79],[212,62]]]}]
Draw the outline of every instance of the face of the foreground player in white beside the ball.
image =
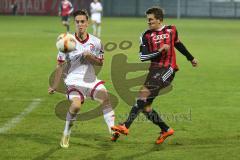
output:
[{"label": "face of the foreground player in white beside the ball", "polygon": [[83,34],[87,31],[88,20],[85,15],[78,15],[75,17],[75,27],[76,31],[80,34]]}]

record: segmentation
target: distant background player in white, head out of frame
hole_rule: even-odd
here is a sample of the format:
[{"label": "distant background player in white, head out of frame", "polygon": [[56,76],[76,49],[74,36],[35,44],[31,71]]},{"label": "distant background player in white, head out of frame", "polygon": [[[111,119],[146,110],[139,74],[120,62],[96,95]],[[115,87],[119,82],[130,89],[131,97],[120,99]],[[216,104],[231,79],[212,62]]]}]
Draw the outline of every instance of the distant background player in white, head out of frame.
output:
[{"label": "distant background player in white, head out of frame", "polygon": [[102,4],[98,0],[93,0],[90,4],[91,20],[93,26],[93,35],[101,36],[101,16],[102,16]]}]

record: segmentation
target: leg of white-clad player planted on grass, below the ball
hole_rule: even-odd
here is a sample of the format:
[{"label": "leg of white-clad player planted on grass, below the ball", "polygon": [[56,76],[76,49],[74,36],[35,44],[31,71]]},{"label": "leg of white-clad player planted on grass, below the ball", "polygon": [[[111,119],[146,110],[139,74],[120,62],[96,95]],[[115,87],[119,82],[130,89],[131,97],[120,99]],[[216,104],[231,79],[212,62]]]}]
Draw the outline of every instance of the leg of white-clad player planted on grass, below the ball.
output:
[{"label": "leg of white-clad player planted on grass, below the ball", "polygon": [[81,107],[81,99],[78,97],[72,98],[72,104],[69,108],[69,111],[66,116],[66,124],[63,131],[63,136],[60,142],[60,146],[62,148],[68,148],[69,147],[69,139],[71,134],[71,127],[73,126],[73,122],[77,119],[77,114],[80,111]]}]

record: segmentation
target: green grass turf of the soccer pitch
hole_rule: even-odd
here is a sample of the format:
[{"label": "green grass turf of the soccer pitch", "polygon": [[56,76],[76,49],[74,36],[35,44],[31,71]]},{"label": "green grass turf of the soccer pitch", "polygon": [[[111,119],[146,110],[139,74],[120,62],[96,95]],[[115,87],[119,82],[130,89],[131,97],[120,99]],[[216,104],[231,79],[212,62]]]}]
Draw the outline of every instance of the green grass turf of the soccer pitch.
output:
[{"label": "green grass turf of the soccer pitch", "polygon": [[[0,16],[0,20],[0,128],[21,114],[33,99],[42,100],[19,124],[0,134],[0,159],[240,159],[240,21],[165,21],[177,26],[179,37],[199,60],[199,67],[192,68],[177,53],[180,71],[174,89],[153,104],[176,130],[166,143],[154,145],[159,129],[143,116],[132,125],[129,136],[112,143],[105,122],[99,117],[78,122],[73,127],[71,146],[64,150],[58,145],[64,121],[56,117],[54,108],[65,97],[47,94],[48,77],[56,65],[55,40],[64,32],[60,19]],[[123,53],[129,62],[139,62],[138,40],[145,27],[145,19],[141,18],[103,19],[105,44],[133,42],[128,50],[105,54],[99,78],[107,81],[107,88],[115,96],[118,95],[111,81],[111,60]],[[115,112],[120,122],[130,107],[118,97]],[[83,112],[92,105],[87,101]]]}]

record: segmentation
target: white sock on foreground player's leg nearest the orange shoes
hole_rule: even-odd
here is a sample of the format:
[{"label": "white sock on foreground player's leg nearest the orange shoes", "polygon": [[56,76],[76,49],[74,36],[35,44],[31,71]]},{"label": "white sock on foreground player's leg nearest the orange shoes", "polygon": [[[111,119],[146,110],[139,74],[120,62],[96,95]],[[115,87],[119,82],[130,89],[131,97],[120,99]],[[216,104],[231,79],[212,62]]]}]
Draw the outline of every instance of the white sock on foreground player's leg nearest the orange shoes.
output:
[{"label": "white sock on foreground player's leg nearest the orange shoes", "polygon": [[115,115],[112,108],[107,108],[103,110],[103,117],[105,122],[107,123],[109,133],[112,134],[111,127],[114,126]]}]

